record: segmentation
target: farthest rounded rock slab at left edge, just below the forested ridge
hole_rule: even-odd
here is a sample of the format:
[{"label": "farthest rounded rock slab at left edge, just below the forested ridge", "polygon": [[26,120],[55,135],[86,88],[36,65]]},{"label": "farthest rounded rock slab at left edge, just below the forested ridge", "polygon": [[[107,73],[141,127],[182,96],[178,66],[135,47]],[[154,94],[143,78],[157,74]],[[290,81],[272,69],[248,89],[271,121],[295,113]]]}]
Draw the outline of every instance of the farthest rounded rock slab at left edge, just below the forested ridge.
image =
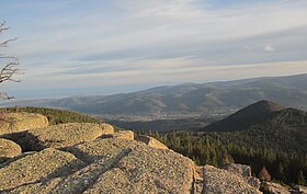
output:
[{"label": "farthest rounded rock slab at left edge, just below the forested ridge", "polygon": [[47,127],[49,125],[46,116],[36,113],[5,113],[4,116],[5,119],[11,122],[0,122],[0,135]]}]

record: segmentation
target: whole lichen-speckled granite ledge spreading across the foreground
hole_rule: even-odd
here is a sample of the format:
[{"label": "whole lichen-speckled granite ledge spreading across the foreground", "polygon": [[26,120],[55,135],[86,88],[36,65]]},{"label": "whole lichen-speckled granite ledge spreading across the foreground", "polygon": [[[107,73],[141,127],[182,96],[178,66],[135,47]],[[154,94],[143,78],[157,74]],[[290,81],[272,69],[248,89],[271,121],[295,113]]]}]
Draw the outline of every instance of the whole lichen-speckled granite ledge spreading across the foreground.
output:
[{"label": "whole lichen-speckled granite ledge spreading across the foreground", "polygon": [[2,130],[23,152],[1,139],[0,193],[260,193],[247,167],[197,167],[152,137],[107,124],[42,121]]}]

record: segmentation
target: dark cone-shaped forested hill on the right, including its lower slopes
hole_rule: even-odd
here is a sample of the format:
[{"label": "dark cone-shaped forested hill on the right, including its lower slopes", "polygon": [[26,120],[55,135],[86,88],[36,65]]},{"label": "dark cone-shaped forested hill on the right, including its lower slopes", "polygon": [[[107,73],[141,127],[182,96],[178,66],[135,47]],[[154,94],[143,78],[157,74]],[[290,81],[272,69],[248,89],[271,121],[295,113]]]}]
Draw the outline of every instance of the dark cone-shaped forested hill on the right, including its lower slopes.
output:
[{"label": "dark cone-shaped forested hill on the right, including its lower slopes", "polygon": [[[204,132],[228,132],[245,146],[278,148],[307,153],[307,112],[260,101],[215,122]],[[223,133],[221,133],[223,134]],[[250,139],[249,139],[250,138]]]}]

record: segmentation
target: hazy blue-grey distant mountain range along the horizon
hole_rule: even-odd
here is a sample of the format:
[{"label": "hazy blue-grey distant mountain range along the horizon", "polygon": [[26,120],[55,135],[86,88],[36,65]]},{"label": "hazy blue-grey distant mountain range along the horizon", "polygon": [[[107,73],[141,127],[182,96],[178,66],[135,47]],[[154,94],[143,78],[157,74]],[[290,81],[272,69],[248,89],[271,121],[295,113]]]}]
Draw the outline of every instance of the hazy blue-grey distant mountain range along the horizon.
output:
[{"label": "hazy blue-grey distant mountain range along the horizon", "polygon": [[307,75],[163,85],[133,93],[10,101],[89,114],[229,114],[261,100],[307,110]]}]

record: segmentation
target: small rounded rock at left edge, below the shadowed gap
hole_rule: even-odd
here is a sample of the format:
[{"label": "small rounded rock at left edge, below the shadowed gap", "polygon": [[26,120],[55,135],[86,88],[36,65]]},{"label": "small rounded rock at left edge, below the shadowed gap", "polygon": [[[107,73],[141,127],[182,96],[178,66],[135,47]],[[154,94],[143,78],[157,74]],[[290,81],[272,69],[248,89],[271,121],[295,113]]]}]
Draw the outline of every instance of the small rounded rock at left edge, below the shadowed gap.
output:
[{"label": "small rounded rock at left edge, below the shadowed gap", "polygon": [[21,147],[9,139],[0,138],[0,162],[19,156],[22,152]]}]

